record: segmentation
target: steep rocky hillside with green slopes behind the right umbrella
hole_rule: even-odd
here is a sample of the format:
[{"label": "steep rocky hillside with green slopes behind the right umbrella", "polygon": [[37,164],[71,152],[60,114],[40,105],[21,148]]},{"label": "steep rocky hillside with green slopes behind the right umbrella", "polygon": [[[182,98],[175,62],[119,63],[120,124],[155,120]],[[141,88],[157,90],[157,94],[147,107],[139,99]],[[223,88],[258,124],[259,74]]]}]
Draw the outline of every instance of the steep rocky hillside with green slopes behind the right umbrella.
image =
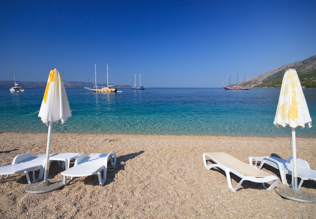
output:
[{"label": "steep rocky hillside with green slopes behind the right umbrella", "polygon": [[241,82],[240,85],[246,87],[281,87],[283,75],[290,68],[296,69],[302,87],[316,88],[316,55],[277,67],[270,72],[248,79],[245,83]]}]

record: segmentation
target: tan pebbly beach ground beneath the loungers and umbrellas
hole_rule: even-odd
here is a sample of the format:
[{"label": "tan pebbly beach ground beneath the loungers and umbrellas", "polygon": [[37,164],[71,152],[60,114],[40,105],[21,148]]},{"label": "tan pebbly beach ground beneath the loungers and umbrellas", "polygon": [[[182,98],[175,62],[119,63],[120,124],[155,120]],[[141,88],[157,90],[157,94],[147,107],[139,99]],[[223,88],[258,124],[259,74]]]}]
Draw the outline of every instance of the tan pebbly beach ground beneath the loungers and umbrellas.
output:
[{"label": "tan pebbly beach ground beneath the loungers and umbrellas", "polygon": [[[46,153],[47,134],[0,134],[0,166],[16,155]],[[297,138],[297,156],[316,169],[316,138]],[[106,183],[97,176],[74,178],[69,185],[44,194],[24,191],[25,174],[0,182],[1,218],[315,218],[316,203],[283,199],[259,183],[244,181],[237,192],[227,186],[225,172],[204,167],[204,152],[226,152],[248,163],[248,156],[292,155],[289,138],[78,135],[52,134],[51,153],[117,153]],[[73,161],[70,166],[73,165]],[[264,171],[280,178],[267,165]],[[61,180],[54,161],[49,178]],[[240,178],[232,175],[233,187]],[[269,182],[271,183],[271,182]],[[285,187],[281,182],[277,187]],[[301,190],[316,194],[306,180]]]}]

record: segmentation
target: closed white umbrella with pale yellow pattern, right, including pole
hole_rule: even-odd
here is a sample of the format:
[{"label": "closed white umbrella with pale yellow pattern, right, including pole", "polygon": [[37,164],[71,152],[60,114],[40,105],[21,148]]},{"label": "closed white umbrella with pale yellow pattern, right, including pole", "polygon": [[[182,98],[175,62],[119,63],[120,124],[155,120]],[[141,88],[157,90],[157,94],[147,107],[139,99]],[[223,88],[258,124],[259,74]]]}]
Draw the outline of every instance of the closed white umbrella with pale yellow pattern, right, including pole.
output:
[{"label": "closed white umbrella with pale yellow pattern, right, including pole", "polygon": [[307,125],[312,127],[312,119],[309,115],[307,103],[303,94],[300,79],[295,69],[289,69],[283,76],[279,102],[276,109],[276,116],[273,122],[278,128],[292,128],[293,166],[294,166],[294,189],[297,185],[297,164],[296,164],[296,141],[295,128],[304,128]]}]

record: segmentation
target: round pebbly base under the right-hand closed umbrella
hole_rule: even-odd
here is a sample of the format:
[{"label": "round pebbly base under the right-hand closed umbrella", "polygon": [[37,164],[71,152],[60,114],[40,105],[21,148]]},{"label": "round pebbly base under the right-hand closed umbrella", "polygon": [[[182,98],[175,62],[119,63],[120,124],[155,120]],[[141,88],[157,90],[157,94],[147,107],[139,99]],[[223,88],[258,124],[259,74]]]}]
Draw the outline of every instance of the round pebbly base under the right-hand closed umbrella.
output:
[{"label": "round pebbly base under the right-hand closed umbrella", "polygon": [[292,188],[276,188],[276,193],[283,198],[287,198],[297,202],[316,203],[316,196],[312,193],[302,190],[294,190]]}]

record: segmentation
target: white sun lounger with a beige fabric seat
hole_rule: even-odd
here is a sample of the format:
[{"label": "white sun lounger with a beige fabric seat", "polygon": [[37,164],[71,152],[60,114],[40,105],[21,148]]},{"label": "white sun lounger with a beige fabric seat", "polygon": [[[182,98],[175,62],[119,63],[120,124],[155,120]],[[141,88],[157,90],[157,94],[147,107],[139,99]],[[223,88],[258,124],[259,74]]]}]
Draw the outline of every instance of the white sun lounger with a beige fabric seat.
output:
[{"label": "white sun lounger with a beige fabric seat", "polygon": [[[205,156],[208,156],[216,164],[207,165]],[[204,166],[208,170],[213,167],[218,167],[225,171],[228,187],[233,192],[236,192],[238,190],[238,188],[240,187],[241,183],[244,180],[249,180],[256,183],[262,183],[264,189],[267,189],[267,190],[273,190],[276,187],[276,184],[279,182],[279,179],[276,178],[275,176],[272,176],[269,173],[258,170],[257,168],[254,168],[254,166],[252,165],[245,164],[244,162],[224,152],[204,153],[203,161],[204,161]],[[236,188],[232,187],[232,181],[229,174],[230,172],[234,173],[235,175],[241,178]],[[264,183],[272,181],[272,180],[273,180],[272,184],[270,185],[269,188],[267,188],[264,185]]]}]

